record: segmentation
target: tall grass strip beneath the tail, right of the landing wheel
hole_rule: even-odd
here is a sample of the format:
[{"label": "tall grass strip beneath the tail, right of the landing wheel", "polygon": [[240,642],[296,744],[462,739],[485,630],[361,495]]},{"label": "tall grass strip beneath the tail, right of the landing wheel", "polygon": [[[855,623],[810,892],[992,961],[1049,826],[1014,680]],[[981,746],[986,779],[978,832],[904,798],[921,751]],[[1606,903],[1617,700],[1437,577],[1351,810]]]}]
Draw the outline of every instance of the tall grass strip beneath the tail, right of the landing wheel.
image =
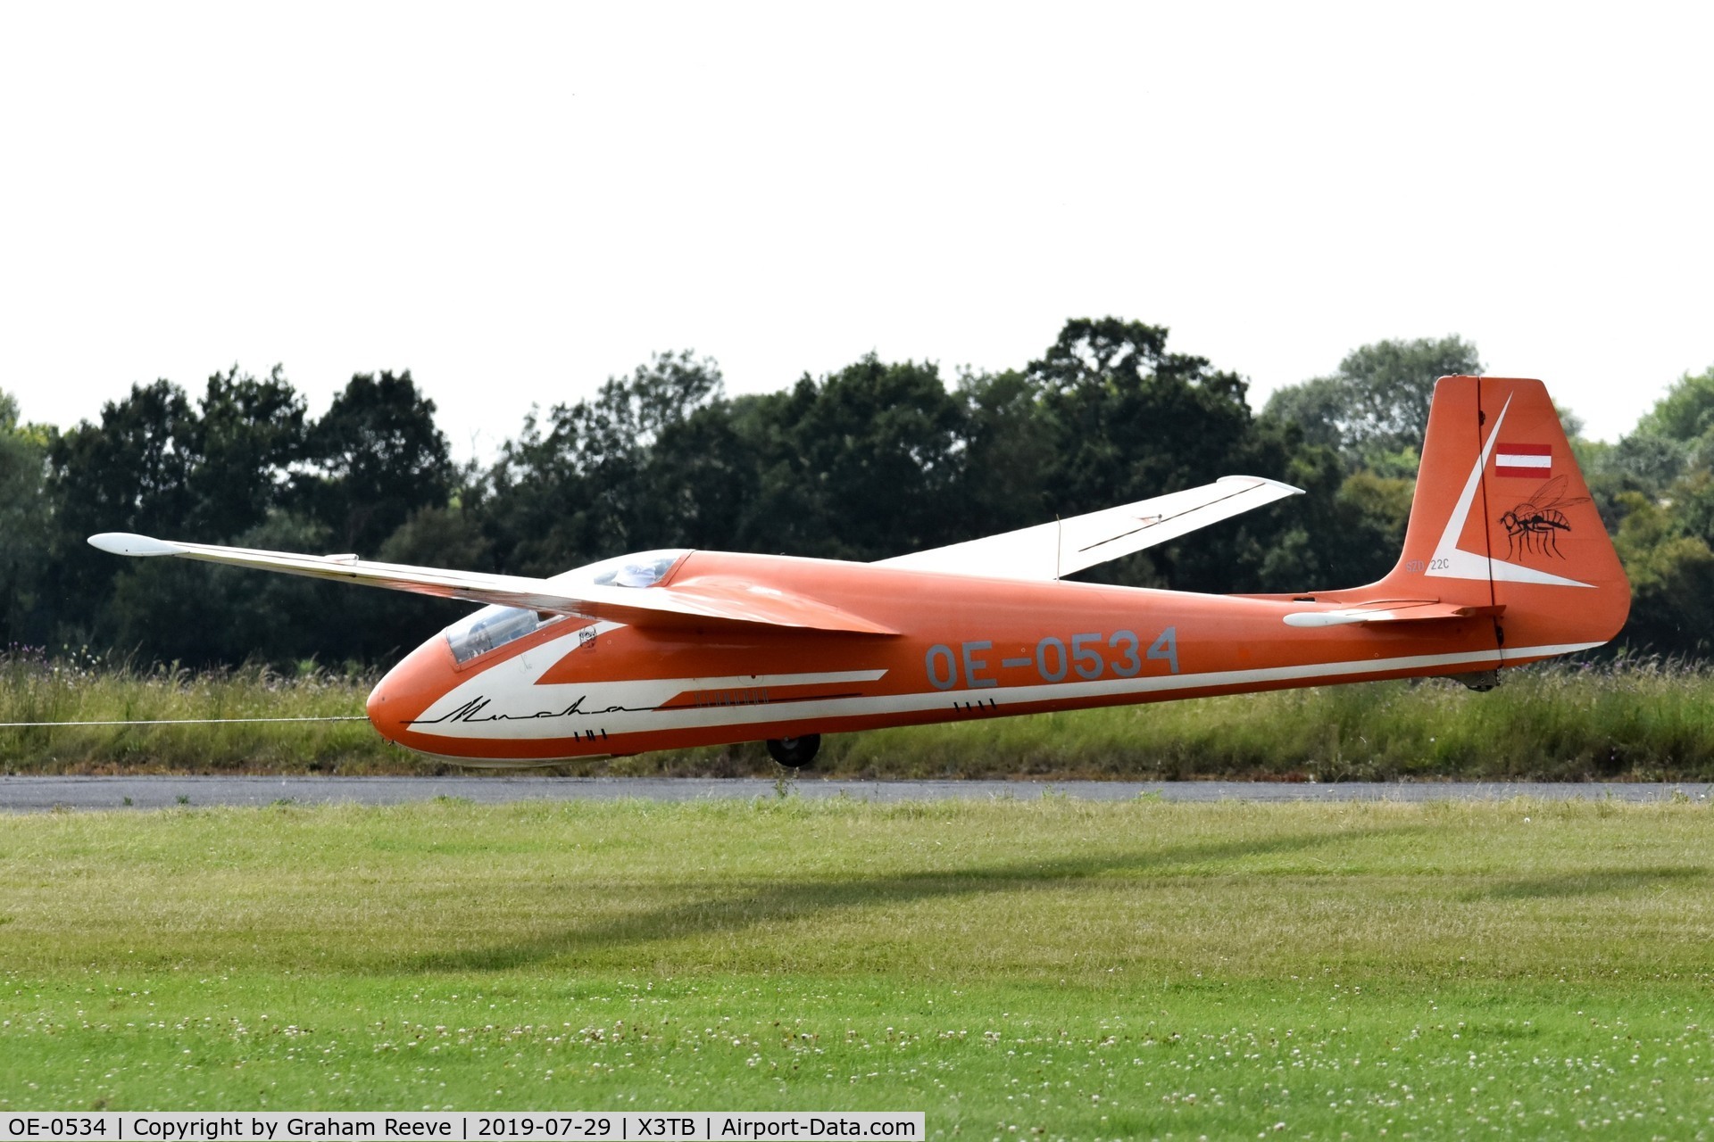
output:
[{"label": "tall grass strip beneath the tail, right of the landing wheel", "polygon": [[1375,681],[840,738],[876,776],[1274,781],[1714,777],[1714,675],[1669,661],[1534,666],[1488,693]]}]

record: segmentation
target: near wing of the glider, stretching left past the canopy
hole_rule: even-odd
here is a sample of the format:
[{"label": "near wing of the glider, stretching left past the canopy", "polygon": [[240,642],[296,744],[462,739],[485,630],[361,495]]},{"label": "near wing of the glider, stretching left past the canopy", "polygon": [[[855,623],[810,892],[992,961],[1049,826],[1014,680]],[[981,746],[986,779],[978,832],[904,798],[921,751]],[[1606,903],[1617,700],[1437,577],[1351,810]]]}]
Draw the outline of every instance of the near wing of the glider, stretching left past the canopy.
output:
[{"label": "near wing of the glider, stretching left past the canopy", "polygon": [[732,580],[692,579],[684,587],[608,587],[579,582],[576,572],[554,579],[526,579],[523,575],[375,563],[351,555],[297,555],[291,551],[223,548],[207,543],[175,543],[123,532],[91,536],[89,543],[113,555],[177,555],[207,563],[254,567],[288,575],[355,582],[365,587],[410,591],[442,599],[518,606],[552,615],[578,615],[632,627],[742,623],[866,635],[896,633],[818,599]]}]

